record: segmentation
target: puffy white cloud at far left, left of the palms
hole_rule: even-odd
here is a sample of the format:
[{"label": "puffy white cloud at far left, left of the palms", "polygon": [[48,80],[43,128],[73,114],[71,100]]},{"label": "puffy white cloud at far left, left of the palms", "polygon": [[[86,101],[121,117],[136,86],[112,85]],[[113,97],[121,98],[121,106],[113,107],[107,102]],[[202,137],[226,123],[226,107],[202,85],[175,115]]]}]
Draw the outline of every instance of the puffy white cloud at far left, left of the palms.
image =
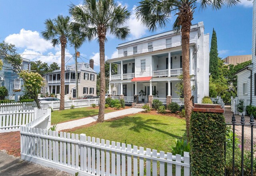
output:
[{"label": "puffy white cloud at far left, left of the palms", "polygon": [[37,31],[21,29],[19,34],[11,34],[5,41],[16,47],[26,48],[33,51],[45,52],[52,49],[52,44],[40,37]]}]

